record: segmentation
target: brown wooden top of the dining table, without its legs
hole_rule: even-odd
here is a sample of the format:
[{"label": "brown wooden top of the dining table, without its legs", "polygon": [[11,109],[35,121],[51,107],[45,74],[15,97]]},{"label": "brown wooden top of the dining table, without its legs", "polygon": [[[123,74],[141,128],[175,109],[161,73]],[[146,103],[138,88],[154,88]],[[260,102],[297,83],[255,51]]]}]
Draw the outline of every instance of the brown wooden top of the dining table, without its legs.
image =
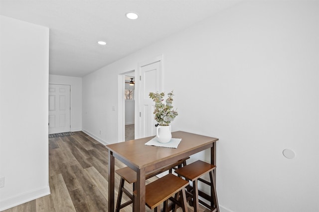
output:
[{"label": "brown wooden top of the dining table, without its legs", "polygon": [[141,169],[161,161],[163,164],[159,164],[159,166],[164,165],[165,161],[169,163],[170,158],[176,159],[194,154],[218,141],[218,139],[212,137],[177,131],[172,132],[172,138],[181,139],[177,148],[145,145],[153,138],[154,136],[113,143],[107,145],[106,148],[112,151],[116,158],[122,160],[122,162],[125,161],[131,168]]}]

